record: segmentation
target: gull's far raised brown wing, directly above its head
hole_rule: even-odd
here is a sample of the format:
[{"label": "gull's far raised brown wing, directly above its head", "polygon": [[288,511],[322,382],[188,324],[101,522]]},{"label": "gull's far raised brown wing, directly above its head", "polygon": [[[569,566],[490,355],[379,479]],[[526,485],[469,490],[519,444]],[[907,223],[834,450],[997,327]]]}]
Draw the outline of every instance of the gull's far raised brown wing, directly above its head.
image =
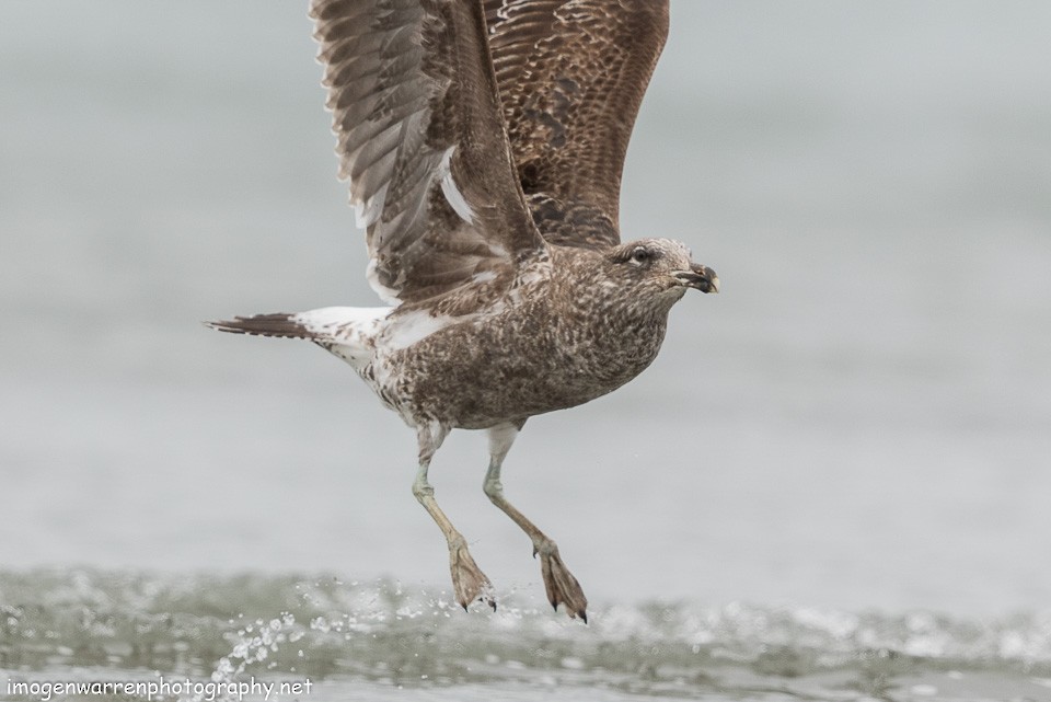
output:
[{"label": "gull's far raised brown wing, directly above its head", "polygon": [[544,238],[620,241],[621,173],[668,0],[484,0],[518,176]]}]

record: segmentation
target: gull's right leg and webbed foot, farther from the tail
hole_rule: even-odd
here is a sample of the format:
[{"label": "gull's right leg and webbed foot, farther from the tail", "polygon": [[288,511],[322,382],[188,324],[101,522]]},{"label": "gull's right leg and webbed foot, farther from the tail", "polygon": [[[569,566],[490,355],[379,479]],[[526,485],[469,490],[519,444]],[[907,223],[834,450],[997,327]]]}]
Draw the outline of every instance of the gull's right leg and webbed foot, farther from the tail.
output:
[{"label": "gull's right leg and webbed foot, farther from the tail", "polygon": [[588,621],[588,598],[584,596],[580,584],[573,573],[562,562],[558,546],[536,528],[526,515],[515,508],[515,505],[504,497],[504,484],[500,482],[500,467],[504,458],[511,449],[515,437],[522,425],[503,424],[488,429],[489,435],[489,470],[485,473],[485,494],[489,500],[504,510],[508,517],[522,528],[533,542],[533,556],[540,556],[540,569],[544,576],[544,588],[547,599],[556,610],[558,605],[565,605],[569,617],[579,617],[585,623]]}]

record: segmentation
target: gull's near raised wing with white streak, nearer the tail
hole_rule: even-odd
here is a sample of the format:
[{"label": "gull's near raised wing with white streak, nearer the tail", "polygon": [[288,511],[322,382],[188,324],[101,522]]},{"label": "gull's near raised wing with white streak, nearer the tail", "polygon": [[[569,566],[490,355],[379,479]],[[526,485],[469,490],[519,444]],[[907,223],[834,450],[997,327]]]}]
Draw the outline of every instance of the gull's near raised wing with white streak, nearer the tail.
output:
[{"label": "gull's near raised wing with white streak, nearer the tail", "polygon": [[339,175],[372,287],[506,285],[545,246],[511,163],[478,1],[312,0]]}]

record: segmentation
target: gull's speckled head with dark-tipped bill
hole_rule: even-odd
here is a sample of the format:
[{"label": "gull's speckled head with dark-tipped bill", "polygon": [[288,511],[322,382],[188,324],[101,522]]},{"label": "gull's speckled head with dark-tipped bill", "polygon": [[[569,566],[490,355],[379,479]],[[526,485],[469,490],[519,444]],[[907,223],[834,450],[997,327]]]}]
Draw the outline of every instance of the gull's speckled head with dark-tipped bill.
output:
[{"label": "gull's speckled head with dark-tipped bill", "polygon": [[607,269],[621,286],[636,295],[673,303],[686,290],[718,292],[715,271],[694,263],[685,244],[671,239],[640,239],[613,248]]}]

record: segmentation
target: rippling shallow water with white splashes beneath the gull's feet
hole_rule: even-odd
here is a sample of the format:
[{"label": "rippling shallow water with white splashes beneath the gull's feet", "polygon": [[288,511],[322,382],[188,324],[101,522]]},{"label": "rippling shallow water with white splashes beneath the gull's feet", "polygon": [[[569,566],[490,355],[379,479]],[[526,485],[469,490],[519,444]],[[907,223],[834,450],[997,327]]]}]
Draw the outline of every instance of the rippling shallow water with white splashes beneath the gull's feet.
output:
[{"label": "rippling shallow water with white splashes beneath the gull's feet", "polygon": [[230,682],[309,680],[299,699],[313,700],[1051,699],[1051,613],[651,601],[599,605],[584,625],[526,592],[465,613],[448,594],[391,582],[96,571],[0,574],[0,597],[9,686],[211,682],[207,698]]}]

